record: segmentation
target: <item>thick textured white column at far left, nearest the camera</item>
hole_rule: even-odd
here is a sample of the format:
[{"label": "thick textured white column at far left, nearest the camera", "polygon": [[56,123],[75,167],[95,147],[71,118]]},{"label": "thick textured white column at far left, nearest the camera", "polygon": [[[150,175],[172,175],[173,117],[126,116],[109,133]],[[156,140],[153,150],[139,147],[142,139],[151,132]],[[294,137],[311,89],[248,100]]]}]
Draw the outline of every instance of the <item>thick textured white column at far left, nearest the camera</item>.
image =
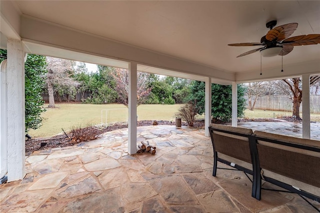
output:
[{"label": "thick textured white column at far left, nearest the camera", "polygon": [[8,182],[21,180],[24,171],[24,52],[22,41],[7,40]]}]

